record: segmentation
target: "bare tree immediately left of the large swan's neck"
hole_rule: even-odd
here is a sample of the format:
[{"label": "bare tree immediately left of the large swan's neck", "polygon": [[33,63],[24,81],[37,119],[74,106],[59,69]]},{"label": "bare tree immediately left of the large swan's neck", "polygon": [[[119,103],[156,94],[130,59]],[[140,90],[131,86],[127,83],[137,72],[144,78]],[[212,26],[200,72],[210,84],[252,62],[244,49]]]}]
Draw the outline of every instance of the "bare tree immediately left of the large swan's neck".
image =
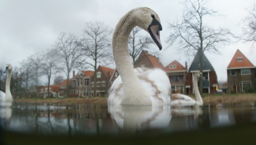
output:
[{"label": "bare tree immediately left of the large swan's neck", "polygon": [[85,64],[94,69],[94,93],[96,95],[96,76],[97,66],[102,64],[108,66],[113,62],[113,54],[110,44],[110,34],[112,30],[103,22],[90,22],[86,24],[84,29],[84,38],[81,39],[80,46],[84,55],[88,57]]}]

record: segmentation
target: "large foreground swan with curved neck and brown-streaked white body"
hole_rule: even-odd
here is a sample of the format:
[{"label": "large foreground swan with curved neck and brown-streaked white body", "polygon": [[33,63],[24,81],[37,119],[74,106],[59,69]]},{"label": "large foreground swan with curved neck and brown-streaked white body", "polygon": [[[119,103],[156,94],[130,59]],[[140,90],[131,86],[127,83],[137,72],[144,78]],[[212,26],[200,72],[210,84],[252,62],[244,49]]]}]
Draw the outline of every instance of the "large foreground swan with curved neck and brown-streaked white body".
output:
[{"label": "large foreground swan with curved neck and brown-streaked white body", "polygon": [[158,15],[150,8],[135,8],[116,24],[113,33],[113,55],[120,76],[109,89],[109,106],[145,105],[170,106],[172,93],[168,76],[161,69],[133,69],[128,52],[128,40],[134,27],[147,31],[159,50],[162,49],[162,26]]}]

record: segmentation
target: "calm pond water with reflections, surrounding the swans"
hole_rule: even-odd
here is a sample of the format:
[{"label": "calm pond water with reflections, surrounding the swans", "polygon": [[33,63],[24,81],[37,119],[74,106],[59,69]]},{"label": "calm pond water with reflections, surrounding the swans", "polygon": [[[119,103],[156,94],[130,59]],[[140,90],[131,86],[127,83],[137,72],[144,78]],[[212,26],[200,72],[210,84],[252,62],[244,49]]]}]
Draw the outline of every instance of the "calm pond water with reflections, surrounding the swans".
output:
[{"label": "calm pond water with reflections, surrounding the swans", "polygon": [[191,107],[108,107],[95,104],[0,105],[4,130],[36,135],[161,135],[256,121],[252,104]]}]

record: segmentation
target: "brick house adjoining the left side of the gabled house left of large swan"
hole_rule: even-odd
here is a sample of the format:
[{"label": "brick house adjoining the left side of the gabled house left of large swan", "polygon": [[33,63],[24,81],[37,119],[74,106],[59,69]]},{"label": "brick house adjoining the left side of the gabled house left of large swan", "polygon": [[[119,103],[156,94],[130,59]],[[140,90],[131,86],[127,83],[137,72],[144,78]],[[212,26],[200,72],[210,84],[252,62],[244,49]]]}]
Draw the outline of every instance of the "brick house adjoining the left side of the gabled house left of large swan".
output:
[{"label": "brick house adjoining the left side of the gabled house left of large swan", "polygon": [[73,71],[73,78],[70,85],[70,96],[72,97],[89,97],[93,81],[94,71],[78,71],[75,75]]}]

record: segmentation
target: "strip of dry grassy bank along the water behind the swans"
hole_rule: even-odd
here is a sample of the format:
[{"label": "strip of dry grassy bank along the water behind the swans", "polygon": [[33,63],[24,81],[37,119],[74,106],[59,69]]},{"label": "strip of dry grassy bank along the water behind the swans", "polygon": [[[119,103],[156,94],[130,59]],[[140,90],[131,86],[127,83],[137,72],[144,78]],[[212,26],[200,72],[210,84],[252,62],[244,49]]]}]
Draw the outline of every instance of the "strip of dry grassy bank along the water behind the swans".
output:
[{"label": "strip of dry grassy bank along the water behind the swans", "polygon": [[[195,95],[189,95],[195,99]],[[203,94],[202,98],[204,104],[230,104],[241,102],[256,102],[256,93],[239,93],[239,94],[225,94],[225,95],[211,95]],[[22,98],[14,99],[13,102],[30,102],[30,103],[63,103],[63,104],[108,104],[108,97],[80,97],[80,98]]]}]

